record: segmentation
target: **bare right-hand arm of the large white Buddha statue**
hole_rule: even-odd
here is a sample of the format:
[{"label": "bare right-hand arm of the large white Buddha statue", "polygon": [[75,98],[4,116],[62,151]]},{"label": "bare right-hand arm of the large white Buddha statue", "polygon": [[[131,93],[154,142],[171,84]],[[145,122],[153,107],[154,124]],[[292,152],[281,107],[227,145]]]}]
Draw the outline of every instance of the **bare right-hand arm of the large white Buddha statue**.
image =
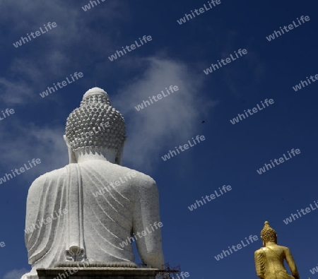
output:
[{"label": "bare right-hand arm of the large white Buddha statue", "polygon": [[137,235],[136,247],[143,263],[161,269],[164,258],[159,222],[158,187],[151,177],[142,177],[136,188],[134,205],[133,231]]}]

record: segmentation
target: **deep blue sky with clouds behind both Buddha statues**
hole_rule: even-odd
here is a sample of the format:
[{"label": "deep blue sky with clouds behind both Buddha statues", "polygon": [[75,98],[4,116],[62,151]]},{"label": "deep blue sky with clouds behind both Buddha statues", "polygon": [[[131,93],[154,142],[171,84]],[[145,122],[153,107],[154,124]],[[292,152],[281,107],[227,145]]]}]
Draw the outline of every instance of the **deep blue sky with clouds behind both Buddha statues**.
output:
[{"label": "deep blue sky with clouds behind both Buddha statues", "polygon": [[[318,210],[317,86],[293,90],[318,73],[317,4],[314,1],[225,1],[180,25],[184,13],[208,1],[0,1],[0,177],[33,158],[41,164],[0,184],[0,278],[30,271],[24,243],[25,203],[35,178],[64,167],[66,117],[95,86],[126,119],[124,165],[158,184],[165,261],[190,278],[257,278],[254,251],[261,240],[217,261],[223,249],[257,235],[269,220],[278,244],[290,247],[302,278],[315,278]],[[110,3],[108,3],[110,2]],[[267,40],[283,25],[297,28]],[[30,42],[13,43],[47,23],[56,28]],[[139,37],[152,40],[118,59],[108,57]],[[204,70],[238,49],[247,54],[206,75]],[[75,72],[78,81],[41,97]],[[170,85],[179,90],[153,105],[134,107]],[[231,124],[266,99],[273,105]],[[2,114],[0,114],[2,117]],[[204,121],[204,123],[202,123]],[[192,137],[206,140],[170,160],[161,156]],[[270,160],[300,154],[259,174]],[[232,190],[190,211],[218,187]]]}]

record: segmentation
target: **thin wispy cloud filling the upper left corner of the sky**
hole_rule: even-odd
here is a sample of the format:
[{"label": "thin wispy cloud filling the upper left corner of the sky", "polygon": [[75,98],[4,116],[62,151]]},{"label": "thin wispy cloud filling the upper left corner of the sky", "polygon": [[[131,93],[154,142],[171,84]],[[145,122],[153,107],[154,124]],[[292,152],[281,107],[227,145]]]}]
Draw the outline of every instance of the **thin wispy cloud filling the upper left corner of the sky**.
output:
[{"label": "thin wispy cloud filling the upper left corner of the sky", "polygon": [[[114,18],[119,19],[119,11],[126,14],[119,1],[103,4],[102,11],[96,10],[94,16],[83,13],[81,5],[76,2],[69,4],[61,0],[21,0],[18,4],[0,0],[0,6],[0,28],[6,30],[12,21],[15,22],[6,34],[6,50],[15,55],[8,57],[11,60],[8,61],[6,78],[0,79],[1,101],[7,105],[21,105],[30,100],[41,102],[39,93],[47,86],[94,64],[92,54],[100,57],[105,49],[114,48],[110,37],[115,32],[105,29],[102,40],[95,40],[100,37],[95,23],[99,20],[104,24],[105,21],[111,23]],[[48,22],[57,23],[57,27],[21,47],[13,47],[21,36],[26,37],[27,33],[39,30]],[[79,45],[85,51],[81,52]],[[78,51],[74,52],[74,49]]]}]

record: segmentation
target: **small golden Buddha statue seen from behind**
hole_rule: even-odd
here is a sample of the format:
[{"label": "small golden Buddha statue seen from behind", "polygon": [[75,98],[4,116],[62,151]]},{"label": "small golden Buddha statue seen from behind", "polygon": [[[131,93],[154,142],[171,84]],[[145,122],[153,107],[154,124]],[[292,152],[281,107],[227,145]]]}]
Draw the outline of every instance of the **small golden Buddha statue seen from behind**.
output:
[{"label": "small golden Buddha statue seen from behind", "polygon": [[[261,230],[263,247],[254,253],[257,276],[261,279],[299,279],[299,274],[293,256],[288,247],[277,244],[277,234],[265,222]],[[287,261],[292,275],[289,275],[284,266],[284,259]]]}]

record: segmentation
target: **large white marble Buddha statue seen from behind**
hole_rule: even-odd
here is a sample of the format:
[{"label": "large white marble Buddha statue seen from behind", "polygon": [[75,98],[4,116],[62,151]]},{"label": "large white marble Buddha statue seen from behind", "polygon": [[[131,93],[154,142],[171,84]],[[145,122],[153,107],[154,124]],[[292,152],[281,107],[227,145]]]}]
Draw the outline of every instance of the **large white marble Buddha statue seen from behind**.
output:
[{"label": "large white marble Buddha statue seen from behind", "polygon": [[[125,129],[101,88],[88,90],[71,112],[64,135],[69,165],[38,177],[28,191],[25,244],[32,271],[21,279],[37,279],[37,268],[57,262],[134,265],[131,244],[121,244],[160,222],[159,198],[151,177],[122,167]],[[136,237],[136,247],[144,264],[161,268],[160,227],[150,231]]]}]

